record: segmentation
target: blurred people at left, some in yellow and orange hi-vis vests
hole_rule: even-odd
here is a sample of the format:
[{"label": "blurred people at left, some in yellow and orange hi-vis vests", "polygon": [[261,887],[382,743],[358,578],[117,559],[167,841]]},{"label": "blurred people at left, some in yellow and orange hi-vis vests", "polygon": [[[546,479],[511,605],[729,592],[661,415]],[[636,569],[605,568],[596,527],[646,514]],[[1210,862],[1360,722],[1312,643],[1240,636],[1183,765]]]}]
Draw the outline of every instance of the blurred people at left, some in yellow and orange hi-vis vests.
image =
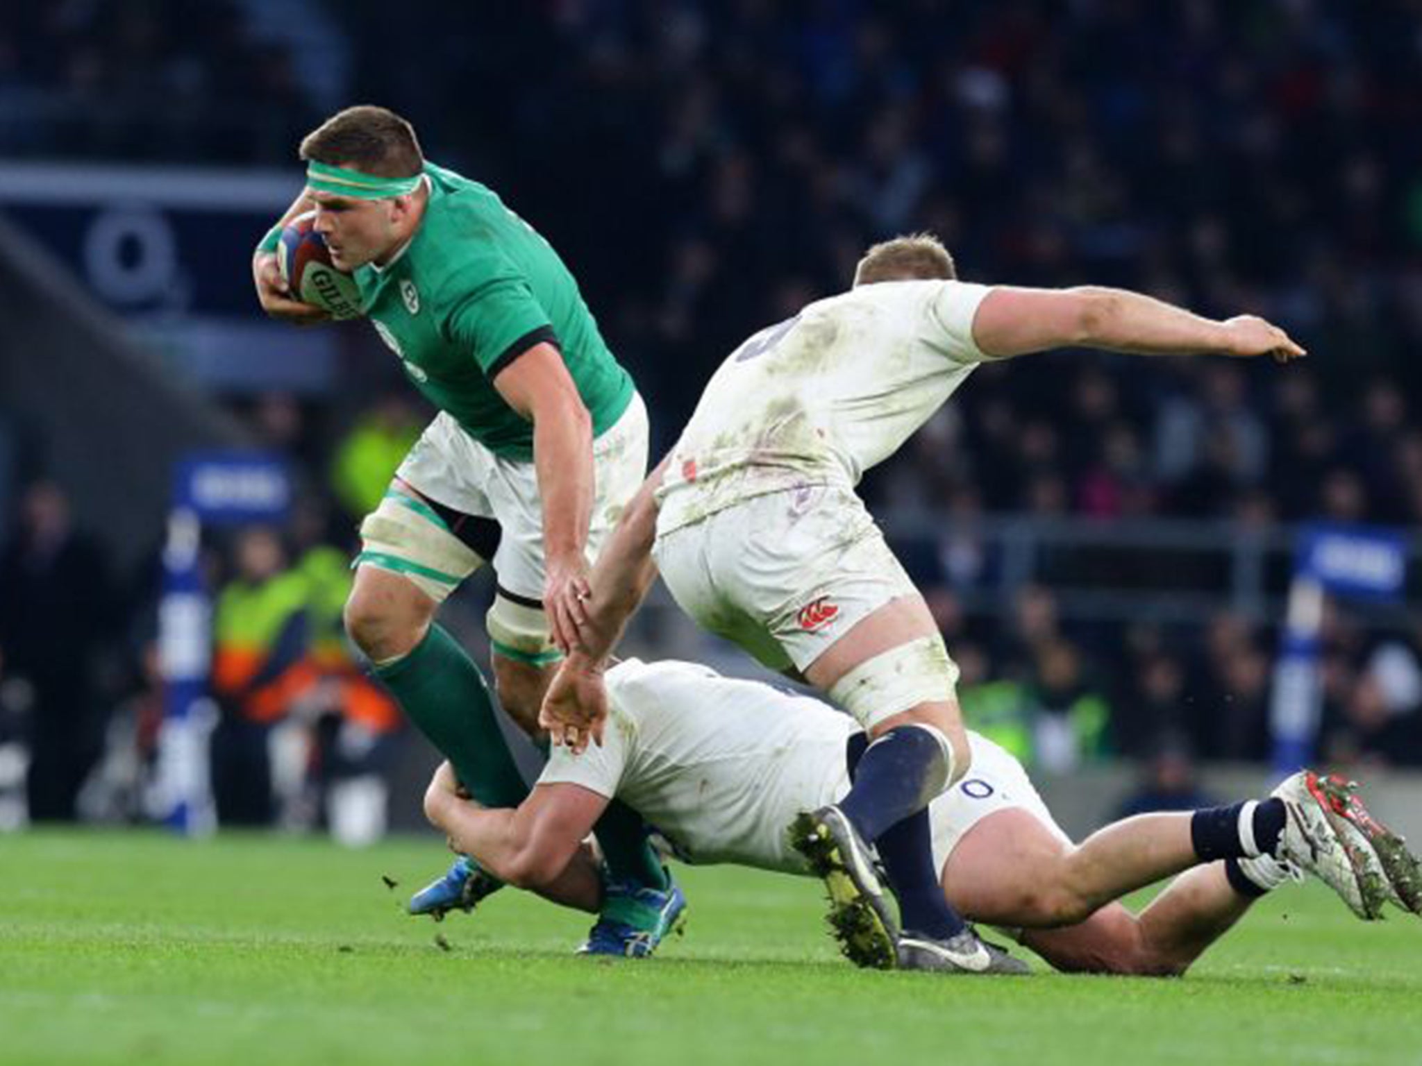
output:
[{"label": "blurred people at left, some in yellow and orange hi-vis vests", "polygon": [[[422,428],[391,395],[333,438],[287,395],[240,404],[252,438],[284,458],[282,522],[208,530],[210,672],[195,711],[212,728],[222,824],[328,827],[364,843],[385,826],[405,738],[395,704],[346,640],[356,526]],[[0,830],[30,820],[162,813],[161,551],[122,573],[44,478],[20,493],[0,543]]]}]

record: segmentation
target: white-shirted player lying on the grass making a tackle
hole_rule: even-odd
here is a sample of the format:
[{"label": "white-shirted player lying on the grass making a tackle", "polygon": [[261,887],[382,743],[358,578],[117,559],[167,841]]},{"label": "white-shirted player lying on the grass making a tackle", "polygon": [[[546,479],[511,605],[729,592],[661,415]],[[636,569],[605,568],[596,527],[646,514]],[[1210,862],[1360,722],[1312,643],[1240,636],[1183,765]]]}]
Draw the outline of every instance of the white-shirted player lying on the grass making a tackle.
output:
[{"label": "white-shirted player lying on the grass making a tackle", "polygon": [[[518,809],[481,807],[456,792],[448,766],[435,772],[425,813],[478,863],[465,868],[466,901],[502,880],[597,907],[597,860],[583,841],[614,796],[688,863],[811,873],[786,826],[849,792],[867,746],[849,716],[691,662],[629,659],[606,684],[602,746],[556,748]],[[1183,974],[1254,900],[1304,871],[1361,918],[1379,917],[1388,900],[1422,912],[1416,860],[1340,779],[1300,772],[1263,800],[1140,814],[1074,846],[1022,765],[967,738],[971,773],[929,806],[943,893],[1058,969]],[[1119,903],[1172,876],[1140,914]]]}]

